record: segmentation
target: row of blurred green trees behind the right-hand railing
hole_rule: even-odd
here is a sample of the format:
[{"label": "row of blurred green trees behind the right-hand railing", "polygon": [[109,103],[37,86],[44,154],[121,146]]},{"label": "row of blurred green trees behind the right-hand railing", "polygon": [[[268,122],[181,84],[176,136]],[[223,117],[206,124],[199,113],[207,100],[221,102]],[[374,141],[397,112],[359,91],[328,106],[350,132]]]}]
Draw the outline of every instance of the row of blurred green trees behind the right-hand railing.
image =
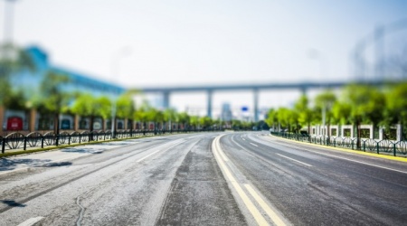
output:
[{"label": "row of blurred green trees behind the right-hand railing", "polygon": [[407,82],[383,84],[381,87],[351,84],[340,95],[326,90],[315,99],[301,96],[293,108],[270,109],[266,122],[270,127],[279,125],[290,132],[299,132],[311,125],[321,125],[323,112],[326,125],[371,124],[389,129],[395,124],[407,127]]}]

